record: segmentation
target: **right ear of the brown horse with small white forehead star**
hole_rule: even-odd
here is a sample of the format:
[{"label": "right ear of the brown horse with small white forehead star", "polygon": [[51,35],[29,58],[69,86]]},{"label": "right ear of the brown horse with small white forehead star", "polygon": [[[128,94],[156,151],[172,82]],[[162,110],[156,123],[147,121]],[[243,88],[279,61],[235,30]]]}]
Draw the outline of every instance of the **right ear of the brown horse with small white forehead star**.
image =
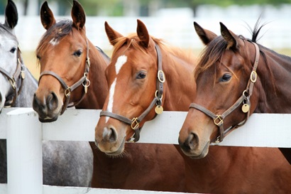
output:
[{"label": "right ear of the brown horse with small white forehead star", "polygon": [[71,16],[73,20],[73,25],[79,30],[79,28],[83,28],[86,22],[86,15],[83,7],[79,4],[78,1],[73,1]]}]

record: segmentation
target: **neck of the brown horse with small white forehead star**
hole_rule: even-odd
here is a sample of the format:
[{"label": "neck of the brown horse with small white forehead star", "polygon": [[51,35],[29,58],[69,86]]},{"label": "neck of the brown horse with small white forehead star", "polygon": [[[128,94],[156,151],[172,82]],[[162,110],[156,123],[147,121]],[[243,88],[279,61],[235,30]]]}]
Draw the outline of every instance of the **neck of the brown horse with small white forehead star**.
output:
[{"label": "neck of the brown horse with small white forehead star", "polygon": [[76,108],[101,109],[108,91],[104,72],[109,64],[109,60],[106,59],[106,57],[103,56],[91,42],[89,42],[89,48],[91,66],[88,79],[90,85],[84,99],[76,106]]}]

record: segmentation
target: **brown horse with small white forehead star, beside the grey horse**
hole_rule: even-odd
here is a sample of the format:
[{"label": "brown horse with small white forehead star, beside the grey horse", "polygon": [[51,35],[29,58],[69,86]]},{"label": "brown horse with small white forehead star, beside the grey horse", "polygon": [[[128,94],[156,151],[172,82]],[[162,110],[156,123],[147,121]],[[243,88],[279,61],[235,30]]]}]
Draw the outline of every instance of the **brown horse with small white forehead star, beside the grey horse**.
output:
[{"label": "brown horse with small white forehead star, beside the grey horse", "polygon": [[[101,109],[108,92],[104,71],[109,58],[87,39],[82,6],[73,1],[72,22],[56,23],[47,3],[43,4],[40,16],[47,29],[36,50],[40,80],[33,108],[40,121],[55,121],[72,102],[76,108]],[[128,144],[122,157],[111,157],[99,151],[94,143],[91,146],[92,187],[185,191],[182,159],[170,157],[170,151]],[[172,170],[168,169],[170,164]]]}]

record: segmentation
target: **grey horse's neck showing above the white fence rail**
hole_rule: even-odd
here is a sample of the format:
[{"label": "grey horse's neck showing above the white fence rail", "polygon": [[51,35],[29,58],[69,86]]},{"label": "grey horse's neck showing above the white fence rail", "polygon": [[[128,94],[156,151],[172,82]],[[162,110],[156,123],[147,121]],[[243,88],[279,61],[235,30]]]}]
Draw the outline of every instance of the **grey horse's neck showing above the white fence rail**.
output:
[{"label": "grey horse's neck showing above the white fence rail", "polygon": [[[38,81],[35,80],[31,72],[26,68],[25,79],[23,80],[21,92],[18,93],[16,102],[13,107],[32,107],[33,95],[38,89]],[[20,85],[20,81],[18,86]],[[17,88],[18,90],[18,88]]]}]

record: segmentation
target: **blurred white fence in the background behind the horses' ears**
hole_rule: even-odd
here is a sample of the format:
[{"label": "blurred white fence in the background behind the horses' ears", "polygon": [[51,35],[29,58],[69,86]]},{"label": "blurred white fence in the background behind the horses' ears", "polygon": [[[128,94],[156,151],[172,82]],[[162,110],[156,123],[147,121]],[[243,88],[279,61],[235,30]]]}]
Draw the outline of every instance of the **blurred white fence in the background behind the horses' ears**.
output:
[{"label": "blurred white fence in the background behind the horses' ears", "polygon": [[[57,19],[64,17],[58,16]],[[71,19],[70,16],[65,18]],[[171,45],[184,49],[202,49],[204,45],[194,31],[193,21],[197,21],[203,28],[214,31],[220,35],[219,21],[223,22],[231,31],[236,34],[251,38],[248,31],[249,26],[253,28],[258,16],[253,18],[233,18],[233,17],[215,17],[215,18],[192,18],[167,16],[167,17],[138,17],[146,24],[150,35],[156,38],[163,38]],[[108,41],[104,30],[104,22],[123,35],[136,32],[136,17],[87,17],[86,30],[87,37],[94,45],[98,45],[103,50],[111,50],[112,47]],[[0,21],[4,21],[4,16],[0,16]],[[290,48],[291,45],[291,26],[290,17],[263,18],[263,23],[268,23],[260,31],[260,40],[258,43],[265,47]],[[126,25],[124,25],[126,23]],[[15,28],[21,50],[35,50],[45,29],[40,23],[40,16],[20,16]]]}]

